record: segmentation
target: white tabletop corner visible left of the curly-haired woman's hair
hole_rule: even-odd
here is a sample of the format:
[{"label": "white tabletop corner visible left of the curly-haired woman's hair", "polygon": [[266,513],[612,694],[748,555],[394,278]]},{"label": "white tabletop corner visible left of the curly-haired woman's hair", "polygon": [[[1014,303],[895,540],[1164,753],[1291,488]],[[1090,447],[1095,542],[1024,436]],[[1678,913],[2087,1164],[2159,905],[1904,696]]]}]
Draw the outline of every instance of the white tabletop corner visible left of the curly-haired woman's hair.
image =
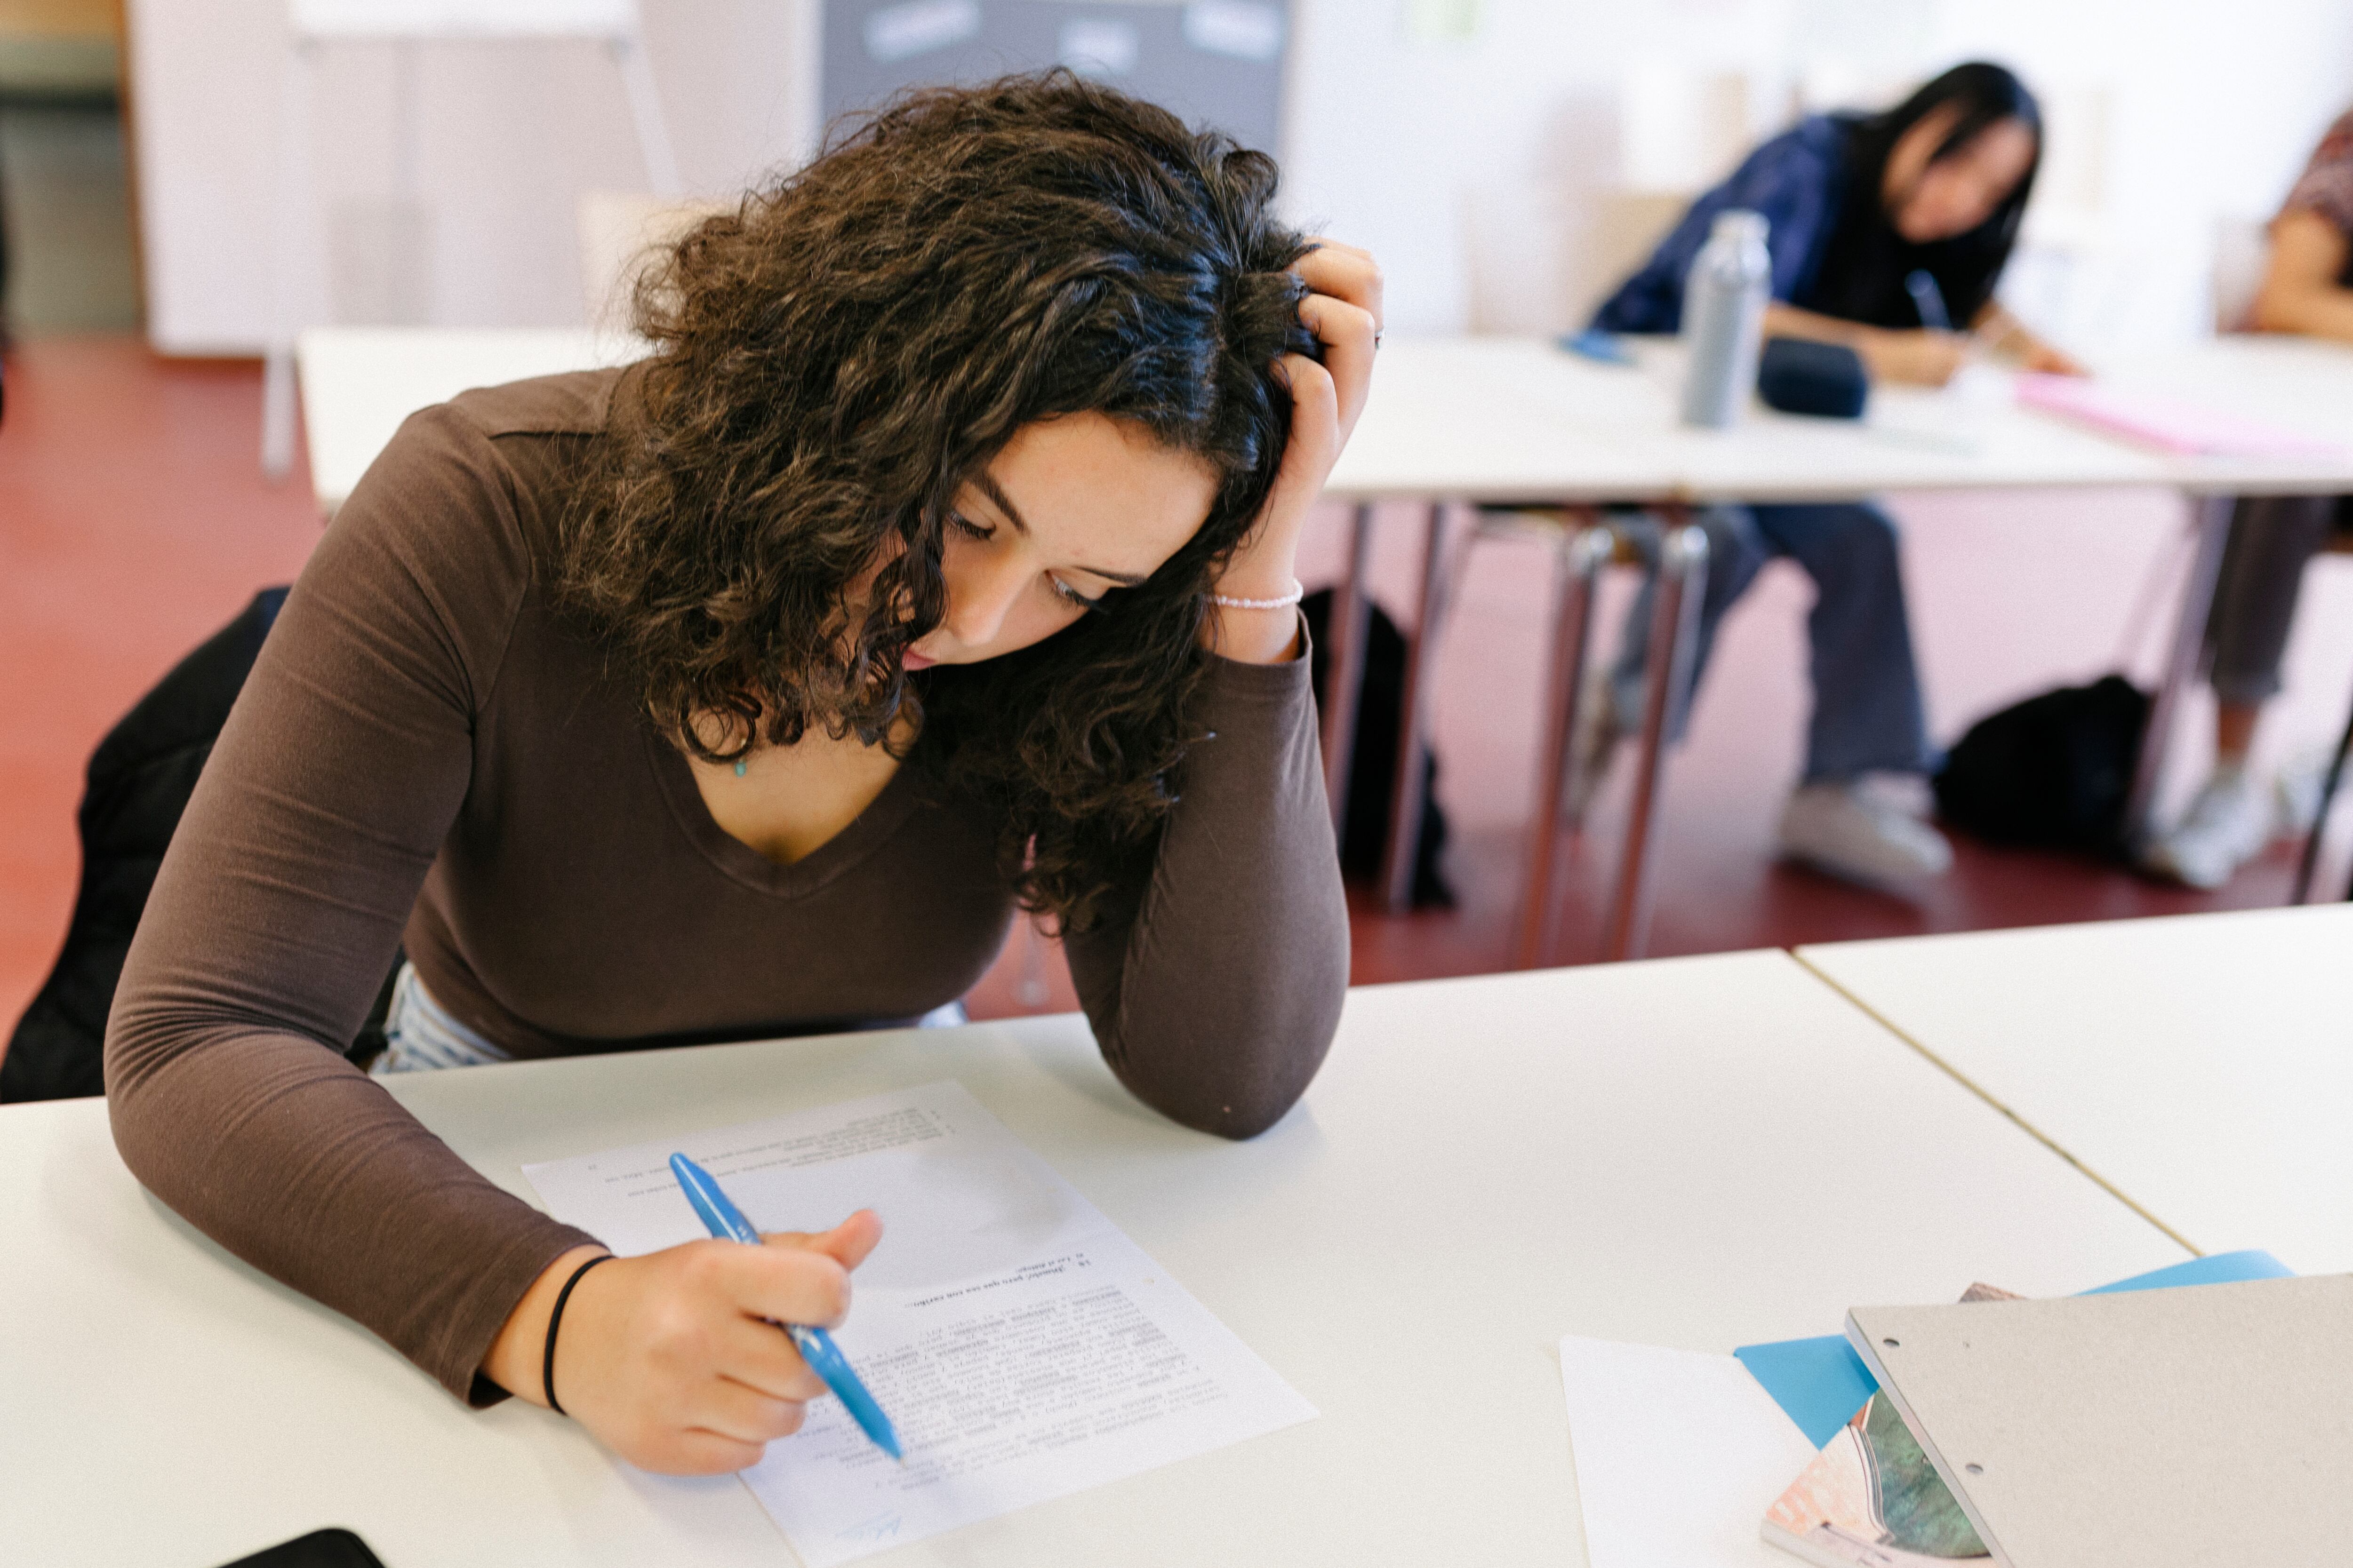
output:
[{"label": "white tabletop corner visible left of the curly-haired woman's hair", "polygon": [[631,336],[541,327],[313,327],[294,346],[301,371],[311,494],[334,517],[351,487],[416,409],[475,386],[628,364]]}]

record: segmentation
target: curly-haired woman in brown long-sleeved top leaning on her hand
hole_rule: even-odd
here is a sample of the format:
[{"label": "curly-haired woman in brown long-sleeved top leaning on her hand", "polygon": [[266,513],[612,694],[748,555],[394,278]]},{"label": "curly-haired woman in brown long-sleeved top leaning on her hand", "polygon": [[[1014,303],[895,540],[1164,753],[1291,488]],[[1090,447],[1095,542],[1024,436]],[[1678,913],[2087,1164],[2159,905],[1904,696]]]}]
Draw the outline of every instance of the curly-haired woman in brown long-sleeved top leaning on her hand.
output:
[{"label": "curly-haired woman in brown long-sleeved top leaning on her hand", "polygon": [[306,567],[155,882],[115,1140],[454,1394],[736,1469],[873,1215],[602,1248],[398,1065],[913,1020],[1054,914],[1111,1070],[1273,1124],[1348,926],[1292,574],[1381,284],[1273,165],[1068,75],[932,92],[678,244],[656,353],[414,416]]}]

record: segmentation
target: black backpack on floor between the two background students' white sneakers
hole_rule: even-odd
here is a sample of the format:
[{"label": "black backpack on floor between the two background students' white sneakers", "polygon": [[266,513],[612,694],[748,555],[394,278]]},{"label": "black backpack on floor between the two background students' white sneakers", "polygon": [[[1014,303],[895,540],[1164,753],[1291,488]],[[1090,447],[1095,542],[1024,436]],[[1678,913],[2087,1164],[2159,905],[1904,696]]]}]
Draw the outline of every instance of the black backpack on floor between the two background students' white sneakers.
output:
[{"label": "black backpack on floor between the two background students' white sneakers", "polygon": [[2012,703],[1953,745],[1937,811],[1988,844],[2118,856],[2146,726],[2148,693],[2122,675]]}]

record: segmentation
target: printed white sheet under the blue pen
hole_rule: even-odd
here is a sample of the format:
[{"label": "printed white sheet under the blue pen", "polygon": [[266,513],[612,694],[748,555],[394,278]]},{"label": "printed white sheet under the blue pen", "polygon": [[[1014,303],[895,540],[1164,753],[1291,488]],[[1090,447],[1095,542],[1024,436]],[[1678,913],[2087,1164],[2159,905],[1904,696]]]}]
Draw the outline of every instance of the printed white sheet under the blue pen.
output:
[{"label": "printed white sheet under the blue pen", "polygon": [[960,1084],[525,1175],[560,1220],[616,1253],[652,1253],[704,1234],[671,1178],[673,1150],[760,1229],[882,1215],[835,1340],[899,1427],[906,1465],[824,1399],[744,1472],[809,1568],[1315,1415]]}]

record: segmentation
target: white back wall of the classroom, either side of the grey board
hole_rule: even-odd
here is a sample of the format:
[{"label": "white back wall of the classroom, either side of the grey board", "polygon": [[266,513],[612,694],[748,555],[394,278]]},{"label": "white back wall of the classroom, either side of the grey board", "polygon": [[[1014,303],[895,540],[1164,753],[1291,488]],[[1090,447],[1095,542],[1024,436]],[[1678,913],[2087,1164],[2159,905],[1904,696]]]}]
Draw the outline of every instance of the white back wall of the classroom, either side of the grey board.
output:
[{"label": "white back wall of the classroom, either side of the grey board", "polygon": [[[1468,40],[1409,26],[1449,9],[1478,12]],[[252,353],[282,0],[129,12],[151,336],[165,353]],[[812,143],[812,0],[645,12],[689,188],[739,188]],[[1918,78],[1972,54],[2101,89],[2099,240],[2057,284],[2021,268],[2019,303],[2075,339],[2200,329],[2214,219],[2278,202],[2353,101],[2341,0],[1297,0],[1294,14],[1287,209],[1384,259],[1400,329],[1551,329],[1588,303],[1586,221],[1619,176],[1617,94],[1638,71],[1744,73],[1755,132],[1800,82]],[[353,207],[395,186],[391,82],[381,49],[320,66],[318,188],[344,226],[346,310],[367,296],[348,277]],[[419,101],[419,317],[579,322],[572,202],[645,183],[612,66],[586,45],[433,47]],[[313,301],[334,308],[325,289]]]}]

